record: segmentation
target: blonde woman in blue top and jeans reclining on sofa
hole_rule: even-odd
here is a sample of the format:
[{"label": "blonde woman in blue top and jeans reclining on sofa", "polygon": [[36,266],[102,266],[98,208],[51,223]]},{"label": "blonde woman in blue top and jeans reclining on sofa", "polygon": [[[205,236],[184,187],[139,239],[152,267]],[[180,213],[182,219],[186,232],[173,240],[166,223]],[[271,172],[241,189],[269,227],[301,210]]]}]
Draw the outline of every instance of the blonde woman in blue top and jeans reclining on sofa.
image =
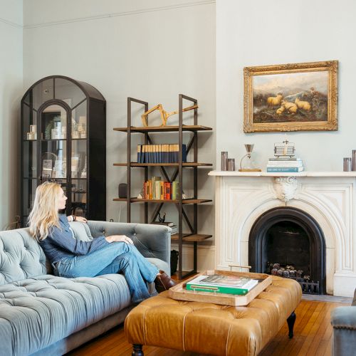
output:
[{"label": "blonde woman in blue top and jeans reclining on sofa", "polygon": [[28,217],[31,235],[51,261],[56,276],[95,277],[122,273],[130,289],[132,303],[150,298],[147,282],[155,281],[158,292],[175,283],[164,271],[148,262],[125,235],[101,236],[93,241],[74,239],[69,221],[86,222],[83,217],[58,214],[67,197],[61,186],[45,182],[36,189],[33,209]]}]

